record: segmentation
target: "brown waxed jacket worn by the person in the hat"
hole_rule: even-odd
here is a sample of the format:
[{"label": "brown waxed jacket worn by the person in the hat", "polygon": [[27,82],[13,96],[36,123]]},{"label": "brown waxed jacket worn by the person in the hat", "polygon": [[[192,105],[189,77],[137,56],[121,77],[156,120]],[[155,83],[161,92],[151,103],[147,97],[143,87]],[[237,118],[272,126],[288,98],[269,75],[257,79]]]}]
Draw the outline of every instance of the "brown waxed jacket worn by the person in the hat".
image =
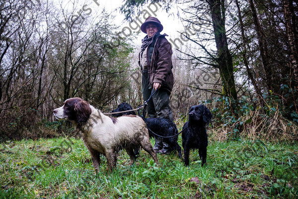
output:
[{"label": "brown waxed jacket worn by the person in the hat", "polygon": [[[161,85],[160,89],[164,89],[168,92],[171,92],[174,85],[174,76],[172,73],[173,52],[171,44],[168,42],[165,36],[168,35],[158,35],[158,37],[156,38],[150,66],[148,67],[148,73],[151,86],[154,82],[156,82]],[[148,54],[148,52],[146,53]],[[147,56],[147,62],[149,63],[149,56]]]}]

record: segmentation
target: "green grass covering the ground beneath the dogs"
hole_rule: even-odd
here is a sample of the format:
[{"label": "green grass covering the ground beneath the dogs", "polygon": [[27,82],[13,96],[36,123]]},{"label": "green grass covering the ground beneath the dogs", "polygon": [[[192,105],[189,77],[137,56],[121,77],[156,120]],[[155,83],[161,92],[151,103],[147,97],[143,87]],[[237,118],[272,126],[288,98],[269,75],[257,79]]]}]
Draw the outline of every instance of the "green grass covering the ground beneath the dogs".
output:
[{"label": "green grass covering the ground beneath the dogs", "polygon": [[209,140],[204,167],[198,151],[189,167],[176,154],[158,154],[156,167],[145,151],[129,166],[121,151],[112,173],[102,156],[96,174],[80,139],[7,142],[0,144],[0,199],[294,199],[297,155],[298,143]]}]

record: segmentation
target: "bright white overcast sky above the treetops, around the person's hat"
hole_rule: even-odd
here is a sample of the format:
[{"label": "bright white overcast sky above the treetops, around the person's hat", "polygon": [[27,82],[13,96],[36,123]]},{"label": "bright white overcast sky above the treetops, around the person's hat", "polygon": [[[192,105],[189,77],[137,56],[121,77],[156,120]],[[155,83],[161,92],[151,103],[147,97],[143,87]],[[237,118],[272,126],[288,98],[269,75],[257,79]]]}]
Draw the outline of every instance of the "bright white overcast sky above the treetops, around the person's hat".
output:
[{"label": "bright white overcast sky above the treetops, around the person's hat", "polygon": [[[184,49],[183,51],[192,51],[192,53],[194,53],[193,50],[189,50],[192,49],[192,42],[188,41],[184,36],[181,35],[181,33],[179,33],[185,31],[180,18],[177,16],[178,11],[180,11],[180,13],[183,11],[181,11],[180,8],[178,8],[178,6],[174,3],[171,4],[172,9],[169,11],[170,13],[172,13],[171,15],[162,9],[162,7],[164,7],[162,4],[148,3],[140,8],[143,11],[140,15],[132,16],[132,19],[134,19],[135,21],[130,23],[129,21],[124,20],[125,16],[119,11],[119,8],[123,4],[123,0],[84,0],[75,2],[69,0],[53,1],[55,3],[62,4],[63,9],[70,9],[70,11],[74,13],[74,15],[79,12],[84,12],[83,14],[87,15],[91,13],[92,18],[94,18],[95,20],[96,16],[99,15],[103,11],[103,9],[105,9],[106,13],[115,16],[112,23],[119,26],[118,29],[114,30],[115,34],[123,30],[123,33],[120,33],[121,35],[119,36],[125,38],[128,37],[130,33],[133,33],[132,36],[129,36],[129,38],[133,39],[132,44],[137,49],[140,48],[142,43],[141,40],[146,36],[146,34],[142,31],[140,31],[139,34],[136,34],[136,31],[140,30],[140,26],[145,21],[145,18],[149,16],[155,16],[163,25],[163,30],[161,33],[166,33],[168,35],[168,37],[166,38],[171,43],[173,51],[176,51],[175,49]],[[180,4],[179,7],[183,5]],[[178,51],[176,52],[178,53]]]}]

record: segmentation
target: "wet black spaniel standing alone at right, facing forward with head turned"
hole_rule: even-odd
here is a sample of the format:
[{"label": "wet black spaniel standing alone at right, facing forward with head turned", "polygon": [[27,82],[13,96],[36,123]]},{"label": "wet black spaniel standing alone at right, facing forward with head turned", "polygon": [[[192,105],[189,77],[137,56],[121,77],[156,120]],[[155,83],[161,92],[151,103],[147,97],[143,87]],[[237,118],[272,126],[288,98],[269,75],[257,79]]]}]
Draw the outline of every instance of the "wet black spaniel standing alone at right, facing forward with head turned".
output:
[{"label": "wet black spaniel standing alone at right, facing forward with head turned", "polygon": [[207,132],[206,127],[212,120],[212,113],[204,105],[191,106],[188,112],[188,121],[182,129],[182,146],[184,149],[184,163],[189,165],[190,149],[199,149],[202,166],[206,164]]}]

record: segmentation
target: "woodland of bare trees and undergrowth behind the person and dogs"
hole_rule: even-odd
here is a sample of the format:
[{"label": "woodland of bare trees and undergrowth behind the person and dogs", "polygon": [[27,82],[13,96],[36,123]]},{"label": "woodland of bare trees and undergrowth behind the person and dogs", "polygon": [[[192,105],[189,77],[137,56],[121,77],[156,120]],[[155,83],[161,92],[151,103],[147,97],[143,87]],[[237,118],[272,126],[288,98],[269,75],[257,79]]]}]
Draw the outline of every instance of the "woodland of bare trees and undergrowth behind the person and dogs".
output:
[{"label": "woodland of bare trees and undergrowth behind the person and dogs", "polygon": [[[150,2],[126,0],[119,10],[129,21]],[[183,6],[179,18],[193,33],[181,30],[189,41],[173,46],[175,121],[204,103],[216,139],[298,139],[297,0],[156,2],[169,14]],[[123,101],[143,103],[139,47],[131,38],[112,42],[119,27],[104,10],[74,17],[82,5],[0,1],[1,139],[70,134],[70,124],[52,113],[68,98],[103,112]]]}]

